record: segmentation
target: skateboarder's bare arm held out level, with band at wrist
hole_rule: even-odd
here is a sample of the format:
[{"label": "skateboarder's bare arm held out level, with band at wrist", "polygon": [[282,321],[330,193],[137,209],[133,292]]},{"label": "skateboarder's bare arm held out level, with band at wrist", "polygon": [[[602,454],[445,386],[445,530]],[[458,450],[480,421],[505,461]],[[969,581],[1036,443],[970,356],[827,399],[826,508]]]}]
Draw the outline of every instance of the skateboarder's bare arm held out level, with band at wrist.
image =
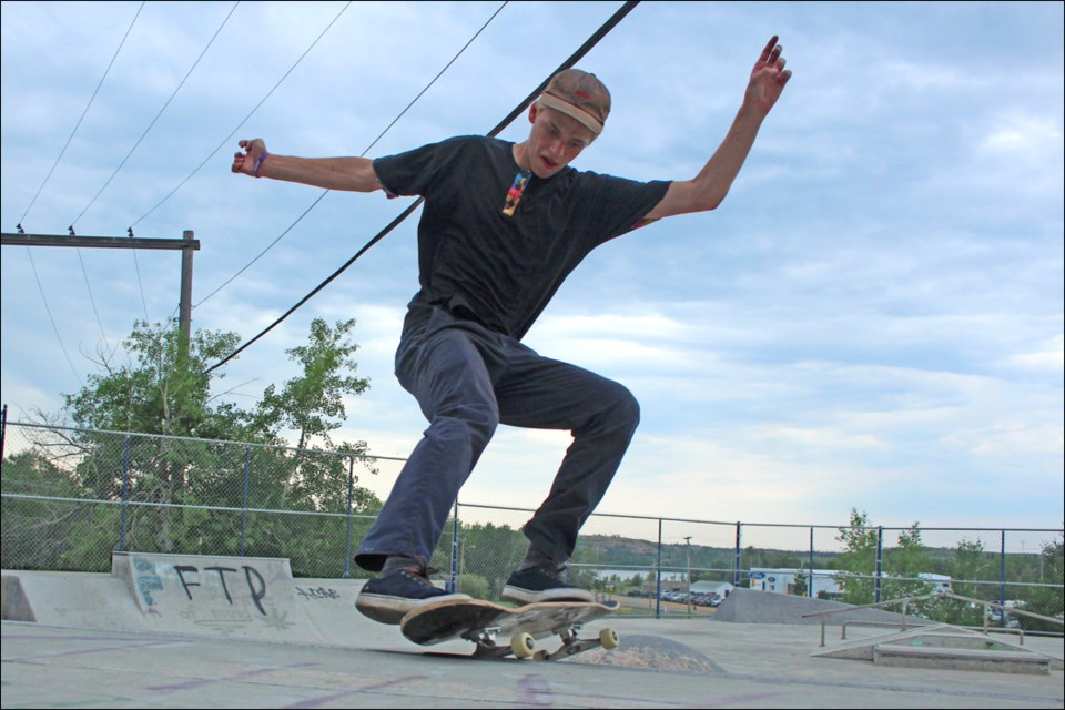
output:
[{"label": "skateboarder's bare arm held out level, with band at wrist", "polygon": [[367,158],[296,158],[266,151],[262,139],[240,142],[233,155],[234,173],[297,182],[326,190],[374,192],[381,190],[374,163]]}]

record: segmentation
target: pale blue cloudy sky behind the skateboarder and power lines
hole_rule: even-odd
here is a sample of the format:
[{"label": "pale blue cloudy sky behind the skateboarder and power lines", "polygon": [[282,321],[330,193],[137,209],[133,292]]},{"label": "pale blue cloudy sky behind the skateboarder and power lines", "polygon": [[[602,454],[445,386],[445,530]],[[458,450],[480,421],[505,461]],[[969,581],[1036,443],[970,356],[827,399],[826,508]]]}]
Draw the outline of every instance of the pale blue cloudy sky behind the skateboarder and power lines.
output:
[{"label": "pale blue cloudy sky behind the skateboarder and power lines", "polygon": [[[193,325],[246,341],[408,201],[232,175],[239,139],[377,156],[484,134],[620,6],[3,2],[0,226],[193,230]],[[641,180],[694,175],[771,36],[794,71],[718,211],[601,247],[526,338],[641,402],[600,511],[1062,525],[1062,28],[1058,2],[643,2],[579,62],[613,112],[576,166]],[[355,317],[372,388],[341,436],[406,456],[417,214],[220,387],[251,406],[298,374],[284,351],[312,318]],[[178,252],[4,246],[10,418],[58,412],[135,320],[173,317],[179,275]],[[500,428],[463,501],[534,506],[568,440]]]}]

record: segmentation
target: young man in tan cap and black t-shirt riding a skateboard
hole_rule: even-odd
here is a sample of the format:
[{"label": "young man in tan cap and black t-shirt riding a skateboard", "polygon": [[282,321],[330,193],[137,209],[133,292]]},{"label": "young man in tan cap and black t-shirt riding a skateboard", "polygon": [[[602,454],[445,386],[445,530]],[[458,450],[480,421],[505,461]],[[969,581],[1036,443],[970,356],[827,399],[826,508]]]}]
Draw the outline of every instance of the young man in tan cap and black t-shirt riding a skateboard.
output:
[{"label": "young man in tan cap and black t-shirt riding a skateboard", "polygon": [[716,209],[790,77],[773,37],[728,134],[691,180],[636,182],[571,168],[610,113],[607,88],[576,69],[556,74],[529,108],[521,143],[462,136],[372,161],[277,155],[261,139],[240,142],[235,173],[425,197],[420,290],[395,364],[429,426],[356,554],[356,564],[381,572],[363,588],[359,610],[398,623],[447,598],[429,581],[428,560],[499,424],[574,436],[550,493],[523,527],[529,550],[504,596],[592,600],[559,572],[621,463],[639,405],[622,385],[544,357],[521,338],[592,248],[661,217]]}]

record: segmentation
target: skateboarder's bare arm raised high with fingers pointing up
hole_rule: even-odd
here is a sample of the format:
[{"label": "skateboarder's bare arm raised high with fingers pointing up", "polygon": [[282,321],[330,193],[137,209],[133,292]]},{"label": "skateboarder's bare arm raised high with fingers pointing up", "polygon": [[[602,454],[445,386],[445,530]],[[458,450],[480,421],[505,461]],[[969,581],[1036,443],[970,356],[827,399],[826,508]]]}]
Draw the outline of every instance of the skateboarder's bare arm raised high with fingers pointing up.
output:
[{"label": "skateboarder's bare arm raised high with fingers pointing up", "polygon": [[784,58],[780,52],[781,47],[777,44],[774,36],[751,70],[743,103],[721,145],[693,179],[673,181],[661,202],[645,219],[703,212],[721,204],[751,152],[762,121],[791,79],[791,72],[784,70]]}]

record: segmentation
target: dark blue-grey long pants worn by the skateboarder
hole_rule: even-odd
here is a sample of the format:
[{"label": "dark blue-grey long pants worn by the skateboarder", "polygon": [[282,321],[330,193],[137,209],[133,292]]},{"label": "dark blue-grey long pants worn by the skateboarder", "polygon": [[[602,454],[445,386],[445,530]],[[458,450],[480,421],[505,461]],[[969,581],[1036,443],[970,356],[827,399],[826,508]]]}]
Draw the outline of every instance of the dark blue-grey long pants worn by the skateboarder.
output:
[{"label": "dark blue-grey long pants worn by the skateboarder", "polygon": [[381,571],[390,555],[428,561],[459,488],[499,424],[572,433],[547,499],[523,527],[557,562],[568,560],[639,424],[631,393],[436,307],[408,314],[396,376],[429,427],[355,562]]}]

